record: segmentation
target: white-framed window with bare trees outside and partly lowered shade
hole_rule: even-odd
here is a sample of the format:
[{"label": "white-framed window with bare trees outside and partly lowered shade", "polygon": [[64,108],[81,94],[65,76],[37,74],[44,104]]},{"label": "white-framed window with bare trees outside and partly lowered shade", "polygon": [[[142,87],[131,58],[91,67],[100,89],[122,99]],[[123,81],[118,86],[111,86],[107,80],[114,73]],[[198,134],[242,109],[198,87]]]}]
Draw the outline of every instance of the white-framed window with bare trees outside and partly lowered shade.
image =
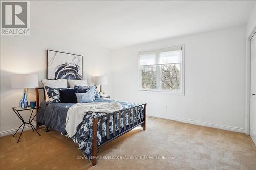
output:
[{"label": "white-framed window with bare trees outside and partly lowered shade", "polygon": [[184,93],[184,46],[139,53],[140,90]]}]

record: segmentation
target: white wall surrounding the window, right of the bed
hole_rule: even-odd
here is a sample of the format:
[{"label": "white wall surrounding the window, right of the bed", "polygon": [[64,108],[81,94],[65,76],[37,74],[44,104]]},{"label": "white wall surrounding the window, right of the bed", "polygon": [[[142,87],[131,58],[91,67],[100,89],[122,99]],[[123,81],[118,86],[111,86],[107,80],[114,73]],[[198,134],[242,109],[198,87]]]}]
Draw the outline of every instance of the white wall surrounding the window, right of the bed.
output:
[{"label": "white wall surrounding the window, right of the bed", "polygon": [[[243,25],[114,50],[112,97],[147,102],[155,117],[244,132],[245,34]],[[185,44],[185,96],[139,91],[138,51],[179,44]]]}]

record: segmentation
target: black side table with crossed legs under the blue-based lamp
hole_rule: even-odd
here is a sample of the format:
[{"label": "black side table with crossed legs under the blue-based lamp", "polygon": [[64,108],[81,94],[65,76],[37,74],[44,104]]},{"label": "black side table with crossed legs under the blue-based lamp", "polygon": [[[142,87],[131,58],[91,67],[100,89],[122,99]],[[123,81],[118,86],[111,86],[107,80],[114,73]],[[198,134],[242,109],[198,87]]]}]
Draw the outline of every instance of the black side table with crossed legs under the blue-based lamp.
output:
[{"label": "black side table with crossed legs under the blue-based lamp", "polygon": [[[35,129],[35,127],[34,127],[33,124],[32,124],[32,121],[34,120],[35,116],[31,119],[34,109],[37,110],[37,111],[36,111],[36,114],[35,114],[35,116],[36,116],[36,115],[37,115],[37,112],[38,112],[38,109],[41,109],[41,107],[34,107],[34,108],[31,108],[30,106],[28,106],[28,107],[26,107],[26,108],[24,108],[24,109],[22,109],[22,108],[20,108],[20,107],[12,107],[12,110],[15,112],[15,114],[18,116],[18,118],[22,121],[22,125],[23,125],[22,132],[23,132],[24,126],[25,126],[26,124],[29,124],[29,125],[31,126],[33,132],[35,132],[35,131],[37,132],[37,130]],[[29,117],[29,120],[28,120],[28,121],[24,121],[23,117],[19,114],[20,111],[25,111],[25,110],[32,110],[31,113],[30,113],[30,117]],[[20,125],[20,127],[22,127],[22,125]],[[18,128],[18,130],[20,129],[20,127]],[[16,135],[16,133],[18,132],[18,130],[15,132],[15,134],[14,134],[12,137],[14,137],[14,136]],[[22,136],[22,132],[21,132],[20,135],[19,135],[18,142],[19,142],[20,136]],[[38,132],[37,132],[37,133],[38,133]],[[38,133],[38,135],[41,136],[39,133]],[[18,143],[18,142],[17,142],[17,143]]]}]

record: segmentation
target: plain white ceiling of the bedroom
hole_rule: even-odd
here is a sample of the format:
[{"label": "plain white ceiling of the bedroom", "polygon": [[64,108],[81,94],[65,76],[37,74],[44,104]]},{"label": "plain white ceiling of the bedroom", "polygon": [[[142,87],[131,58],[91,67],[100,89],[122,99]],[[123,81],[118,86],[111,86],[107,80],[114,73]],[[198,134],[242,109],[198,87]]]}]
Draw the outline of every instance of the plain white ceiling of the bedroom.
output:
[{"label": "plain white ceiling of the bedroom", "polygon": [[[33,1],[31,28],[107,48],[242,25],[256,1]],[[60,29],[61,28],[61,29]]]}]

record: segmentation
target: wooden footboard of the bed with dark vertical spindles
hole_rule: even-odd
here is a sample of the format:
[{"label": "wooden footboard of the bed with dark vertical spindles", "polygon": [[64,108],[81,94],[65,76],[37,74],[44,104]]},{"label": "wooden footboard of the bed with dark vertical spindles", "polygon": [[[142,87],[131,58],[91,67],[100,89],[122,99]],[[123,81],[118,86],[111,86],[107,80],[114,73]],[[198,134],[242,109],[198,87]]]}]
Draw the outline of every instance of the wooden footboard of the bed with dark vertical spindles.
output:
[{"label": "wooden footboard of the bed with dark vertical spindles", "polygon": [[[112,122],[110,122],[111,118],[112,118]],[[127,125],[126,125],[126,122],[127,122]],[[106,124],[106,129],[105,129],[106,135],[104,137],[102,135],[103,123]],[[111,123],[112,123],[112,132],[110,132]],[[146,130],[146,103],[94,118],[93,119],[93,142],[92,142],[92,165],[97,164],[97,149],[102,147],[104,144],[118,138],[119,136],[129,132],[130,130],[132,130],[133,128],[139,125],[143,126],[143,130]],[[102,143],[100,145],[97,145],[97,127],[99,127],[99,134],[101,135],[101,138],[102,138]],[[116,130],[116,127],[118,128],[117,130]]]}]

